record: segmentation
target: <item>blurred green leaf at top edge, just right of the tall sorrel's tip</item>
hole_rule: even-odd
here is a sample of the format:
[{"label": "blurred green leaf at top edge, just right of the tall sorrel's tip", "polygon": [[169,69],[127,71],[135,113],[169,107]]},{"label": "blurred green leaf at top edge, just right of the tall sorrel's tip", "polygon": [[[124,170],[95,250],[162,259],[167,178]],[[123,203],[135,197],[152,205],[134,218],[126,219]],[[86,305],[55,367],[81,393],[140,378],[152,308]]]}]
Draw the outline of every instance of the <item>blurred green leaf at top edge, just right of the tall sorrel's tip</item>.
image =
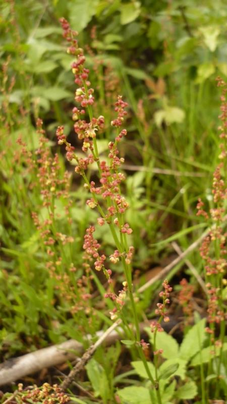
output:
[{"label": "blurred green leaf at top edge, just right of the tall sorrel's tip", "polygon": [[73,29],[80,32],[96,13],[98,0],[74,0],[68,2],[70,22]]}]

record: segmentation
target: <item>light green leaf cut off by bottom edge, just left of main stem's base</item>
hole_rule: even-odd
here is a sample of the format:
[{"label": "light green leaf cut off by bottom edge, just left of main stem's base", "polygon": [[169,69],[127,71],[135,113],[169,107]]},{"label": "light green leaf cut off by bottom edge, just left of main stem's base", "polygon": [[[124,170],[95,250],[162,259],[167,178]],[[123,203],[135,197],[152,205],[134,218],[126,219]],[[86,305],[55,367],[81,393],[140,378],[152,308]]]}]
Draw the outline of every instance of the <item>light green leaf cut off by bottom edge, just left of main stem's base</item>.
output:
[{"label": "light green leaf cut off by bottom edge, just left of main stem's base", "polygon": [[118,390],[119,397],[127,404],[150,404],[148,388],[130,386]]}]

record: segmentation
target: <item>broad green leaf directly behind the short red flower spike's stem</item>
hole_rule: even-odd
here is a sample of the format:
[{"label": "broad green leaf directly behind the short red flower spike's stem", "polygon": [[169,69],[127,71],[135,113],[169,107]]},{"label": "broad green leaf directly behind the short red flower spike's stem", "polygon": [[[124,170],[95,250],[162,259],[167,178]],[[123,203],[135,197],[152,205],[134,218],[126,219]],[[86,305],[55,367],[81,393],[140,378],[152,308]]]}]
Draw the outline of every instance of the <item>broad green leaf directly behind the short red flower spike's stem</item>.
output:
[{"label": "broad green leaf directly behind the short red flower spike's stem", "polygon": [[[150,342],[153,344],[154,333],[150,331],[149,328],[146,329],[150,336]],[[172,335],[167,334],[167,332],[157,332],[156,334],[156,348],[162,349],[163,352],[161,356],[166,359],[176,359],[179,353],[179,345]]]}]

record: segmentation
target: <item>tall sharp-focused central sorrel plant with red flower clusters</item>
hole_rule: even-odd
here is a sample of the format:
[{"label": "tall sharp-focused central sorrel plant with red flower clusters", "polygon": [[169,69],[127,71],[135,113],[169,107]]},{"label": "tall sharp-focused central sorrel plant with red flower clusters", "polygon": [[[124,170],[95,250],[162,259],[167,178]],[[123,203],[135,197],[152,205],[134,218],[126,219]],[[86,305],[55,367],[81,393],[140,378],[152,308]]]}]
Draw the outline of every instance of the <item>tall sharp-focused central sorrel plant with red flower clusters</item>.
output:
[{"label": "tall sharp-focused central sorrel plant with red flower clusters", "polygon": [[[84,158],[77,156],[74,146],[68,142],[66,135],[64,134],[64,127],[59,127],[56,131],[58,137],[58,143],[66,145],[66,158],[68,161],[76,160],[77,166],[75,171],[77,174],[82,175],[84,179],[84,186],[90,191],[91,198],[87,200],[89,208],[96,208],[100,214],[97,219],[99,226],[108,225],[112,238],[116,244],[116,250],[111,254],[108,259],[104,254],[100,254],[99,250],[101,245],[94,238],[95,226],[90,226],[86,230],[84,237],[83,248],[84,254],[84,266],[86,270],[90,267],[94,261],[94,267],[96,271],[103,271],[109,284],[109,292],[105,293],[106,298],[110,298],[115,302],[115,307],[110,312],[112,320],[120,318],[127,330],[127,335],[130,340],[136,346],[139,356],[143,361],[144,367],[148,374],[148,377],[152,385],[156,389],[158,403],[161,404],[161,396],[158,387],[157,377],[156,380],[151,375],[149,367],[144,355],[144,341],[140,337],[139,319],[136,309],[136,298],[133,290],[132,283],[132,258],[134,247],[129,245],[128,236],[132,233],[132,229],[125,219],[125,212],[128,208],[128,203],[121,192],[121,183],[124,181],[125,176],[119,171],[120,165],[124,162],[123,158],[119,157],[118,143],[123,137],[127,135],[126,129],[122,129],[124,118],[127,115],[125,108],[128,106],[122,99],[122,96],[118,96],[118,100],[115,103],[115,112],[117,118],[111,121],[112,128],[115,129],[115,140],[110,141],[108,144],[108,163],[101,160],[98,152],[96,142],[96,132],[102,131],[104,126],[104,117],[99,116],[95,118],[92,112],[92,106],[94,104],[94,89],[91,87],[91,83],[88,78],[89,70],[85,68],[85,56],[83,49],[78,46],[76,39],[77,32],[70,28],[67,20],[62,18],[61,20],[63,35],[69,42],[68,53],[75,57],[75,61],[72,63],[72,72],[74,74],[75,83],[79,86],[75,93],[75,100],[80,104],[80,108],[75,107],[73,109],[73,120],[75,121],[74,130],[78,135],[78,138],[83,141],[82,150],[87,155]],[[82,119],[83,116],[88,114],[89,121]],[[99,174],[99,184],[96,185],[94,181],[89,181],[86,175],[86,169],[93,163],[97,164],[97,170]],[[112,264],[117,264],[121,260],[125,281],[123,282],[123,288],[116,294],[112,287],[111,269],[108,268],[108,261]],[[157,314],[160,316],[160,321],[164,318],[168,321],[168,317],[165,316],[165,305],[169,302],[168,293],[172,289],[167,284],[167,281],[163,283],[164,292],[161,292],[163,297],[163,303],[158,305]],[[130,300],[130,308],[133,314],[134,330],[129,327],[129,323],[124,315],[123,307],[126,304],[127,295]],[[160,330],[158,326],[155,326],[155,335],[157,330]],[[158,353],[158,352],[156,352]],[[155,365],[157,365],[155,361]],[[157,376],[157,374],[156,374]]]}]

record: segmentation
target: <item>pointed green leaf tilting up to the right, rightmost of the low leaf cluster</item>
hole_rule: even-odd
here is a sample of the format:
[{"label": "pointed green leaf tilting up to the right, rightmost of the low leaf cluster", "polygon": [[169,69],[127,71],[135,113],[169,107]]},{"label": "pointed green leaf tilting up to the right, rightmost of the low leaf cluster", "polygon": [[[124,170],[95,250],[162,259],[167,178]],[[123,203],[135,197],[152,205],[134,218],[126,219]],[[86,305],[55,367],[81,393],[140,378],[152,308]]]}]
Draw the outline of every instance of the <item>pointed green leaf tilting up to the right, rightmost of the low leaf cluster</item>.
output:
[{"label": "pointed green leaf tilting up to the right, rightmost of the low leaf cluster", "polygon": [[206,338],[205,323],[206,320],[202,319],[188,331],[180,346],[180,358],[189,361],[202,349]]}]

